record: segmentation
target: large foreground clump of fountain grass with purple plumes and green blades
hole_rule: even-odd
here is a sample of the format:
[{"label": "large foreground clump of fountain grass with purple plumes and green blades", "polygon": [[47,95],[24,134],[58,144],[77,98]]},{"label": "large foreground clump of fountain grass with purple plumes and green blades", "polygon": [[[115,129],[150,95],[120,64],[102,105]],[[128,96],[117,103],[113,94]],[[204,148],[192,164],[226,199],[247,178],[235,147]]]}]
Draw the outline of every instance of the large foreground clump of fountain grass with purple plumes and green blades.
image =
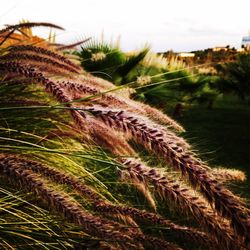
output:
[{"label": "large foreground clump of fountain grass with purple plumes and green blades", "polygon": [[[21,25],[29,26],[36,23]],[[3,247],[187,249],[191,241],[203,249],[247,248],[246,205],[221,184],[242,178],[202,162],[178,135],[182,126],[130,99],[127,85],[116,87],[37,45],[1,49],[0,74],[0,183],[11,189],[2,197],[15,189],[25,200],[20,205],[16,195],[15,214],[1,219],[14,221],[0,224]],[[17,232],[29,207],[33,217]],[[40,208],[52,219],[41,221]],[[170,211],[184,215],[182,225],[167,218]],[[47,228],[31,235],[35,221]],[[49,233],[58,237],[47,240]]]}]

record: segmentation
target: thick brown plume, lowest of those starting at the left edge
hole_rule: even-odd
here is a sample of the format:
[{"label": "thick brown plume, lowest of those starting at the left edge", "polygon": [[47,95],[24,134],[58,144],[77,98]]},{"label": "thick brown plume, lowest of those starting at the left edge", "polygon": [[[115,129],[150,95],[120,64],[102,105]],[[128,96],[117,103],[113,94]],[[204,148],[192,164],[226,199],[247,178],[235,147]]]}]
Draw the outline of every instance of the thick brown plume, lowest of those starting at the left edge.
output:
[{"label": "thick brown plume, lowest of those starting at the left edge", "polygon": [[132,238],[126,235],[123,229],[121,230],[121,228],[117,227],[117,224],[114,225],[98,216],[88,214],[79,203],[68,195],[55,191],[54,188],[50,188],[32,171],[23,169],[16,160],[17,159],[14,161],[13,159],[0,160],[1,174],[9,178],[13,184],[16,185],[18,183],[22,187],[35,192],[41,196],[45,202],[49,203],[51,207],[62,212],[67,219],[83,226],[91,235],[104,241],[119,242],[121,245],[131,249],[138,249],[138,246],[131,243],[133,242]]}]

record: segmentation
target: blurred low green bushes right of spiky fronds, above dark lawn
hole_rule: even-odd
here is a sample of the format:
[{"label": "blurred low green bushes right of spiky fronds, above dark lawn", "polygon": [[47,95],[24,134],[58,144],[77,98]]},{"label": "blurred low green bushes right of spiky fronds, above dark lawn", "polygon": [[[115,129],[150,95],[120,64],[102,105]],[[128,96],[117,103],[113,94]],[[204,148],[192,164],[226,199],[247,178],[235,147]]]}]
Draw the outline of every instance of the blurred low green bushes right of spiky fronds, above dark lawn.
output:
[{"label": "blurred low green bushes right of spiky fronds, above dark lawn", "polygon": [[162,75],[160,79],[151,77],[151,84],[136,88],[135,98],[166,110],[178,103],[207,103],[209,106],[219,95],[214,76],[196,75],[185,68],[159,75]]}]

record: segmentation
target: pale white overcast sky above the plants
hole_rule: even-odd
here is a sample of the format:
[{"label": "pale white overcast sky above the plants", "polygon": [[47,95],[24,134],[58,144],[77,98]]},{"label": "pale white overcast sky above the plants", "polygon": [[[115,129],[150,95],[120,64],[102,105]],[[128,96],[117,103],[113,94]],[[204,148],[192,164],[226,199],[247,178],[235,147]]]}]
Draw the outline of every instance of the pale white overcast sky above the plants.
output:
[{"label": "pale white overcast sky above the plants", "polygon": [[[21,19],[52,22],[58,43],[120,37],[130,51],[151,45],[155,52],[241,46],[250,30],[249,0],[2,0],[0,26]],[[47,29],[36,28],[48,35]],[[36,32],[35,32],[36,33]]]}]

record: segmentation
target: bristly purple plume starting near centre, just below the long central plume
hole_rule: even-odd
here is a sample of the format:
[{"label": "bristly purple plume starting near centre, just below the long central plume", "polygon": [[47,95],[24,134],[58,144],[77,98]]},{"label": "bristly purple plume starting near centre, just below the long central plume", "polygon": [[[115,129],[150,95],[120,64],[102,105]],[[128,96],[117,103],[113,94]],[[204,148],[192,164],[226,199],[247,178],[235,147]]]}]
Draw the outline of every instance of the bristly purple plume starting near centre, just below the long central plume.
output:
[{"label": "bristly purple plume starting near centre, just below the long central plume", "polygon": [[151,182],[162,199],[168,200],[170,204],[174,203],[179,210],[192,214],[204,230],[215,237],[220,248],[237,249],[241,245],[236,244],[237,239],[228,223],[217,216],[208,204],[198,195],[194,195],[187,186],[166,178],[157,169],[149,168],[138,161],[125,160],[123,164],[128,167],[127,170],[132,176],[137,176],[142,182]]}]

